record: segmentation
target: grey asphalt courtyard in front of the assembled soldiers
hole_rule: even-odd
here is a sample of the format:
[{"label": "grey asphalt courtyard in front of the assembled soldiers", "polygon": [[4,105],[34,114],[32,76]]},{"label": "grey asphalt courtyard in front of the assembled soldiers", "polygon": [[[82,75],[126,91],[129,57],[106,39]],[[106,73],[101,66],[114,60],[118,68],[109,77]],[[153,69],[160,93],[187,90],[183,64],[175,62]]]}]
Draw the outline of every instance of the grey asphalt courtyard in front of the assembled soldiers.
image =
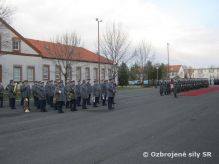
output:
[{"label": "grey asphalt courtyard in front of the assembled soldiers", "polygon": [[0,108],[0,164],[217,164],[218,98],[150,88],[119,92],[113,111]]}]

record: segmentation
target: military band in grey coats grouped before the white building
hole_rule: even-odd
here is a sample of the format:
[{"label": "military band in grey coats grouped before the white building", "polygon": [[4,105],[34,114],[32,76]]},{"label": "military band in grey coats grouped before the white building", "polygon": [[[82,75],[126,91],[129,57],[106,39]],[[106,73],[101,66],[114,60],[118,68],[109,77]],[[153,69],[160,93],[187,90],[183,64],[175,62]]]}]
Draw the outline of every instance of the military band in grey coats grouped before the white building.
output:
[{"label": "military band in grey coats grouped before the white building", "polygon": [[[30,98],[33,97],[33,104],[36,109],[41,112],[47,111],[47,106],[57,110],[58,113],[64,113],[63,107],[69,108],[71,111],[77,111],[79,107],[88,109],[88,106],[98,107],[108,104],[108,109],[114,109],[114,97],[116,94],[116,86],[113,79],[102,80],[99,84],[94,80],[93,85],[90,79],[69,81],[64,85],[63,80],[47,81],[46,84],[41,81],[35,81],[32,86],[28,81],[22,82],[19,85],[13,80],[4,88],[0,83],[0,107],[3,107],[4,93],[9,98],[9,107],[16,109],[16,97],[20,90],[20,105],[23,106],[25,112],[29,112]],[[106,104],[107,102],[107,104]]]}]

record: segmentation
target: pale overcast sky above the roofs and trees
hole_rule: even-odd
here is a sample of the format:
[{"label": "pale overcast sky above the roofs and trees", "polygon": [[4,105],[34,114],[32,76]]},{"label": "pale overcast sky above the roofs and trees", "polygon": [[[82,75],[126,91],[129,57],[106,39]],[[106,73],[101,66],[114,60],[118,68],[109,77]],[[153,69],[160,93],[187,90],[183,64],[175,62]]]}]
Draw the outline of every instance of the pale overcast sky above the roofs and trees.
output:
[{"label": "pale overcast sky above the roofs and trees", "polygon": [[218,0],[7,0],[16,8],[11,25],[27,38],[50,40],[76,32],[96,52],[100,33],[121,23],[133,45],[144,40],[156,51],[155,62],[192,67],[219,66]]}]

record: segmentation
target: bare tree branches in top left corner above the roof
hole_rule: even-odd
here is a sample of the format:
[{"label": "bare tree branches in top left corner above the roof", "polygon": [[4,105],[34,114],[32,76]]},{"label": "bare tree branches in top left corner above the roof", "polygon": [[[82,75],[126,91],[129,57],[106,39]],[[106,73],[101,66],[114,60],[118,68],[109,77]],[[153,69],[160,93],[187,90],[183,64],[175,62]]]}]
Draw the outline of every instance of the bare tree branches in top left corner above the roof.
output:
[{"label": "bare tree branches in top left corner above the roof", "polygon": [[0,0],[0,18],[9,21],[14,13],[14,9],[6,4],[5,0]]}]

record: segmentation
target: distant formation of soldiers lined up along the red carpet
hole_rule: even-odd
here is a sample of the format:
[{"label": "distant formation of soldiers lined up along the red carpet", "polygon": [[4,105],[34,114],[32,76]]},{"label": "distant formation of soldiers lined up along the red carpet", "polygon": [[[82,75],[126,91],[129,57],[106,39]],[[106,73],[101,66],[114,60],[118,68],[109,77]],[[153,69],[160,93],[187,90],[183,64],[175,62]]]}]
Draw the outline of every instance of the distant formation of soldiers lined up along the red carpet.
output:
[{"label": "distant formation of soldiers lined up along the red carpet", "polygon": [[177,79],[162,80],[159,82],[160,95],[171,95],[177,97],[180,92],[190,91],[193,89],[207,88],[209,86],[208,79]]}]

